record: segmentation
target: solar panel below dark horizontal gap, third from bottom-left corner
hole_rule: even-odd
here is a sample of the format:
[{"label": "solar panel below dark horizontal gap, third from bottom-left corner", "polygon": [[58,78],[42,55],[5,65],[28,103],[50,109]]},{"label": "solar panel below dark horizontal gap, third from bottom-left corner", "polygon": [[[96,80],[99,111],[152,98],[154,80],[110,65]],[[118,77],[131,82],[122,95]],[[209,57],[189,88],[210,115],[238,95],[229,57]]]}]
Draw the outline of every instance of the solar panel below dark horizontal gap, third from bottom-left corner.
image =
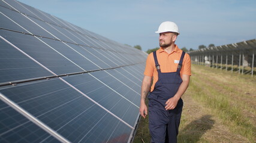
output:
[{"label": "solar panel below dark horizontal gap, third from bottom-left corner", "polygon": [[[129,123],[129,125],[133,126],[138,107],[135,107],[134,104],[125,100],[122,95],[119,95],[89,74],[68,76],[65,77],[64,80],[92,98],[92,100],[98,102],[107,110],[112,111],[116,116]],[[125,118],[126,115],[134,118],[127,119]]]}]

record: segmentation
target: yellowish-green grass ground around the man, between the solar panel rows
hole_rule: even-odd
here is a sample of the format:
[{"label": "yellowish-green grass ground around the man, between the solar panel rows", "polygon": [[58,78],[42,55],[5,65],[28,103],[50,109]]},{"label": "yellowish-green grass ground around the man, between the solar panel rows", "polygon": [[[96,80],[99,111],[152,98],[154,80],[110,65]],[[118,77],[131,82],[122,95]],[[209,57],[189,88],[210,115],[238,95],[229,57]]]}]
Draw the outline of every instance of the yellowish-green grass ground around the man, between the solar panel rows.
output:
[{"label": "yellowish-green grass ground around the man, between the solar panel rows", "polygon": [[[178,142],[256,142],[256,78],[192,65]],[[150,142],[141,119],[134,143]]]}]

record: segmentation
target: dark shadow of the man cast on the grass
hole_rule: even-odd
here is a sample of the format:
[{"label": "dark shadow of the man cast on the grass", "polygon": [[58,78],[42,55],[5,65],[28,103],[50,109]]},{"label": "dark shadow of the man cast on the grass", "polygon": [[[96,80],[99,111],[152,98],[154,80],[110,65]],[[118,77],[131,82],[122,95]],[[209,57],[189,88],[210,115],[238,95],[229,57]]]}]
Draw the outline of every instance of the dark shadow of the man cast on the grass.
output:
[{"label": "dark shadow of the man cast on the grass", "polygon": [[178,142],[198,142],[201,136],[214,125],[215,121],[211,118],[212,116],[205,115],[179,130]]}]

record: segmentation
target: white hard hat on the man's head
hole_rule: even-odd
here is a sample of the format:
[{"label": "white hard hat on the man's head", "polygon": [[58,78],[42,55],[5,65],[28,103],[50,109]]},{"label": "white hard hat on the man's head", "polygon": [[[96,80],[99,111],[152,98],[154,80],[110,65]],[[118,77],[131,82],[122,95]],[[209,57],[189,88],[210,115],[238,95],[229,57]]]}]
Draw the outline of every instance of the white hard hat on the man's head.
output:
[{"label": "white hard hat on the man's head", "polygon": [[160,24],[158,31],[155,33],[163,33],[163,32],[175,32],[177,35],[179,35],[179,29],[177,24],[171,21],[165,21]]}]

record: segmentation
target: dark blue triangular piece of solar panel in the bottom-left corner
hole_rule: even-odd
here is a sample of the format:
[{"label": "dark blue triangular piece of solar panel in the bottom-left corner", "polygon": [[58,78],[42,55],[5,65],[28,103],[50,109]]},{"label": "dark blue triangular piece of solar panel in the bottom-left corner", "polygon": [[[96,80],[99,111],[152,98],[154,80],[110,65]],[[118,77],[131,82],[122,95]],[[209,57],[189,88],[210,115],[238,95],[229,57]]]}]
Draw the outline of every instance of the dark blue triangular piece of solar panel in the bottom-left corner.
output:
[{"label": "dark blue triangular piece of solar panel in the bottom-left corner", "polygon": [[59,142],[0,100],[0,142],[41,142],[46,138]]}]

